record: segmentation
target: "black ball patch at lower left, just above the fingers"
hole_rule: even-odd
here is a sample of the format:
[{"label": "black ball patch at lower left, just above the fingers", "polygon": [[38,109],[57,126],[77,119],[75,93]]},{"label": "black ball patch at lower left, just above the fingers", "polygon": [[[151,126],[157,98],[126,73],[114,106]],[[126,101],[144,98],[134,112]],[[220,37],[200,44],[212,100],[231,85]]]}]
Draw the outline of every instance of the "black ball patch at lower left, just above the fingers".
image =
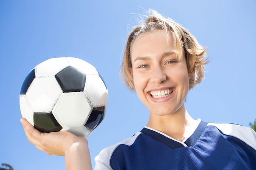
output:
[{"label": "black ball patch at lower left, just above the fingers", "polygon": [[62,129],[52,112],[34,113],[34,127],[40,132],[58,132]]}]

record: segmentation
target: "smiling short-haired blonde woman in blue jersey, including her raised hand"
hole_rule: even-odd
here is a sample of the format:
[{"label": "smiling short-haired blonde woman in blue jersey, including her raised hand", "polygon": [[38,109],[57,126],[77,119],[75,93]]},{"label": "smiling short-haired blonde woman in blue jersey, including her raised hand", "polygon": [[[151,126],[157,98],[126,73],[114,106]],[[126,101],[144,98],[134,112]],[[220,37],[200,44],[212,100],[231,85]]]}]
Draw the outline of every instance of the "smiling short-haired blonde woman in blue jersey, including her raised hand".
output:
[{"label": "smiling short-haired blonde woman in blue jersey, including her raised hand", "polygon": [[[148,124],[102,150],[95,169],[255,169],[252,129],[195,120],[184,106],[189,90],[204,77],[206,49],[176,22],[150,12],[128,36],[121,67],[126,86],[149,110]],[[21,121],[37,148],[65,155],[67,170],[92,169],[86,139],[69,132],[41,133]]]}]

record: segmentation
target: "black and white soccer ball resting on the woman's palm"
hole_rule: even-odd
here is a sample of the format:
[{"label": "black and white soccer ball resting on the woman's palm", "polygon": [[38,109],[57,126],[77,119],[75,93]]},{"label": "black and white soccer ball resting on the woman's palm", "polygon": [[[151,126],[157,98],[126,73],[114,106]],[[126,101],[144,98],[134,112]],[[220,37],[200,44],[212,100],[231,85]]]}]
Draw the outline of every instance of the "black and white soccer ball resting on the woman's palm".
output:
[{"label": "black and white soccer ball resting on the woman's palm", "polygon": [[38,64],[20,90],[22,117],[41,132],[88,137],[101,124],[108,90],[94,66],[74,57]]}]

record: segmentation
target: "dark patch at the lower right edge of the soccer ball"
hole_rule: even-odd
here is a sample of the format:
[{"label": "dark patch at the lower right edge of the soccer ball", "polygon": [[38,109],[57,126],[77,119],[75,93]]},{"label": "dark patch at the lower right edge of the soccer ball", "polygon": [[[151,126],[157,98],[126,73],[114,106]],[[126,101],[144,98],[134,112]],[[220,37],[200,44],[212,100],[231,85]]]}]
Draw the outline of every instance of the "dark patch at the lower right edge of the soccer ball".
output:
[{"label": "dark patch at the lower right edge of the soccer ball", "polygon": [[90,117],[88,118],[85,127],[90,131],[97,128],[97,126],[101,123],[104,118],[105,107],[93,108]]}]

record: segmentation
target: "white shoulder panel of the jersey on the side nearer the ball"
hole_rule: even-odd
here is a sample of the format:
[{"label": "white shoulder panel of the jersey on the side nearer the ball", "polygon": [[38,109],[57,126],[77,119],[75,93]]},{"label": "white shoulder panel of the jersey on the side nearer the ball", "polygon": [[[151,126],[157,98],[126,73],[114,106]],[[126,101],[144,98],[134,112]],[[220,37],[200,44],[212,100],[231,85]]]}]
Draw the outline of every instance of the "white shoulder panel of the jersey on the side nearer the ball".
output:
[{"label": "white shoulder panel of the jersey on the side nearer the ball", "polygon": [[141,134],[142,134],[142,132],[137,132],[132,137],[126,138],[117,144],[114,144],[112,146],[109,146],[109,147],[103,149],[99,153],[99,155],[97,155],[97,157],[95,157],[96,166],[95,166],[94,170],[112,170],[112,168],[110,166],[110,159],[113,155],[113,152],[115,152],[115,150],[117,149],[117,147],[120,145],[131,146],[132,144],[134,144],[137,137],[139,137],[139,135],[141,135]]}]

